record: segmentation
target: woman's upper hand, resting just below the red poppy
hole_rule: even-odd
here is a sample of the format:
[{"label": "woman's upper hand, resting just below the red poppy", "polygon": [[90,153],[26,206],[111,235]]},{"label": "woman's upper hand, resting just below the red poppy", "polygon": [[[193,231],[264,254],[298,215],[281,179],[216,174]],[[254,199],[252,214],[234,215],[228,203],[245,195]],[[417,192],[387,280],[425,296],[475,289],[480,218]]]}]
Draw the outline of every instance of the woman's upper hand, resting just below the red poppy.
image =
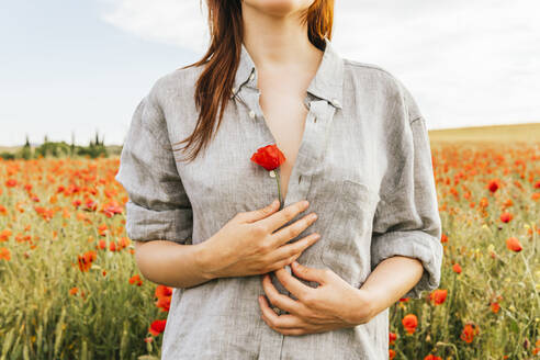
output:
[{"label": "woman's upper hand, resting just below the red poppy", "polygon": [[317,233],[297,237],[316,221],[314,213],[284,226],[305,211],[307,202],[299,201],[280,211],[279,202],[262,209],[236,214],[206,241],[201,251],[205,278],[246,277],[267,273],[293,262],[319,239]]}]

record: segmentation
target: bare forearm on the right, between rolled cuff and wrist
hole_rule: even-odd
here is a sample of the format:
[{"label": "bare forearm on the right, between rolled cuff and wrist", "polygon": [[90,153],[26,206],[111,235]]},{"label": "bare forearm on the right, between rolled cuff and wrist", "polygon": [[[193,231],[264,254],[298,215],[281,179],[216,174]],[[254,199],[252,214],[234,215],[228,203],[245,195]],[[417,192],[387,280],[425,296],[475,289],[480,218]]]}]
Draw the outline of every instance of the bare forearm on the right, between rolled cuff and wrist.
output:
[{"label": "bare forearm on the right, between rolled cuff and wrist", "polygon": [[381,261],[360,290],[370,299],[372,316],[392,306],[415,286],[424,268],[417,259],[393,256]]}]

